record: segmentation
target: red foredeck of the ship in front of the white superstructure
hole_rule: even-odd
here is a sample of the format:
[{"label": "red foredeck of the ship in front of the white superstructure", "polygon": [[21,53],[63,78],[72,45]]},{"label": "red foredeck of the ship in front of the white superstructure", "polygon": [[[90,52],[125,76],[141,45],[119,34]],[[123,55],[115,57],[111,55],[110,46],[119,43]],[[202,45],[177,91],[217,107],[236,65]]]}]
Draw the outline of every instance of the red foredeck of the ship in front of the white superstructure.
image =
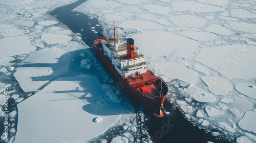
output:
[{"label": "red foredeck of the ship in front of the white superstructure", "polygon": [[[150,81],[158,80],[158,78],[154,75],[152,71],[147,70],[146,73],[125,77],[124,79],[130,79],[129,84],[131,86],[135,86],[143,83],[143,86],[146,87],[148,91],[147,94],[160,97],[161,85],[159,84],[159,82],[154,82],[150,84]],[[140,90],[140,86],[137,86],[136,88]]]}]

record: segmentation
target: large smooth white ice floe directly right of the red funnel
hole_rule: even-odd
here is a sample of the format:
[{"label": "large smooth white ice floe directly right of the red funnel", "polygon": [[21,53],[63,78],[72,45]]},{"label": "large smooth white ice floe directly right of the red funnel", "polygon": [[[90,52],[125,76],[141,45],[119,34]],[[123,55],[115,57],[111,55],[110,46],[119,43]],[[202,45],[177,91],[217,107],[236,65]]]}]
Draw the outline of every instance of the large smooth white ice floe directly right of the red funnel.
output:
[{"label": "large smooth white ice floe directly right of the red funnel", "polygon": [[187,58],[191,56],[191,51],[198,45],[196,41],[189,38],[162,31],[145,32],[133,36],[133,39],[136,46],[140,48],[140,52],[146,57],[168,55],[177,50],[181,57]]}]

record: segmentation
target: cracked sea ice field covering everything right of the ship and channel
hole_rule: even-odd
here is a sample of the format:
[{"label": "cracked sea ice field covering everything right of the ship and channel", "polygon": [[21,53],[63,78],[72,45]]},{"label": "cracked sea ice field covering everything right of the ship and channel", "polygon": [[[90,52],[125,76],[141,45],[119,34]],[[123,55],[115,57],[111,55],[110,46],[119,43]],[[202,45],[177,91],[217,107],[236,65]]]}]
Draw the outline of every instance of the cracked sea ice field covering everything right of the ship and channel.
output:
[{"label": "cracked sea ice field covering everything right of the ship and channel", "polygon": [[[114,20],[105,13],[133,13],[115,20],[122,28],[119,36],[133,37],[147,57],[148,68],[168,82],[166,101],[184,101],[177,107],[190,122],[206,131],[214,130],[214,135],[241,142],[256,141],[251,132],[255,128],[245,130],[244,126],[249,124],[245,121],[256,104],[256,19],[252,5],[254,1],[127,4],[89,0],[75,11],[98,18],[105,35],[111,34],[108,29],[112,29]],[[199,111],[202,114],[196,116]],[[243,124],[238,126],[239,122]]]}]

